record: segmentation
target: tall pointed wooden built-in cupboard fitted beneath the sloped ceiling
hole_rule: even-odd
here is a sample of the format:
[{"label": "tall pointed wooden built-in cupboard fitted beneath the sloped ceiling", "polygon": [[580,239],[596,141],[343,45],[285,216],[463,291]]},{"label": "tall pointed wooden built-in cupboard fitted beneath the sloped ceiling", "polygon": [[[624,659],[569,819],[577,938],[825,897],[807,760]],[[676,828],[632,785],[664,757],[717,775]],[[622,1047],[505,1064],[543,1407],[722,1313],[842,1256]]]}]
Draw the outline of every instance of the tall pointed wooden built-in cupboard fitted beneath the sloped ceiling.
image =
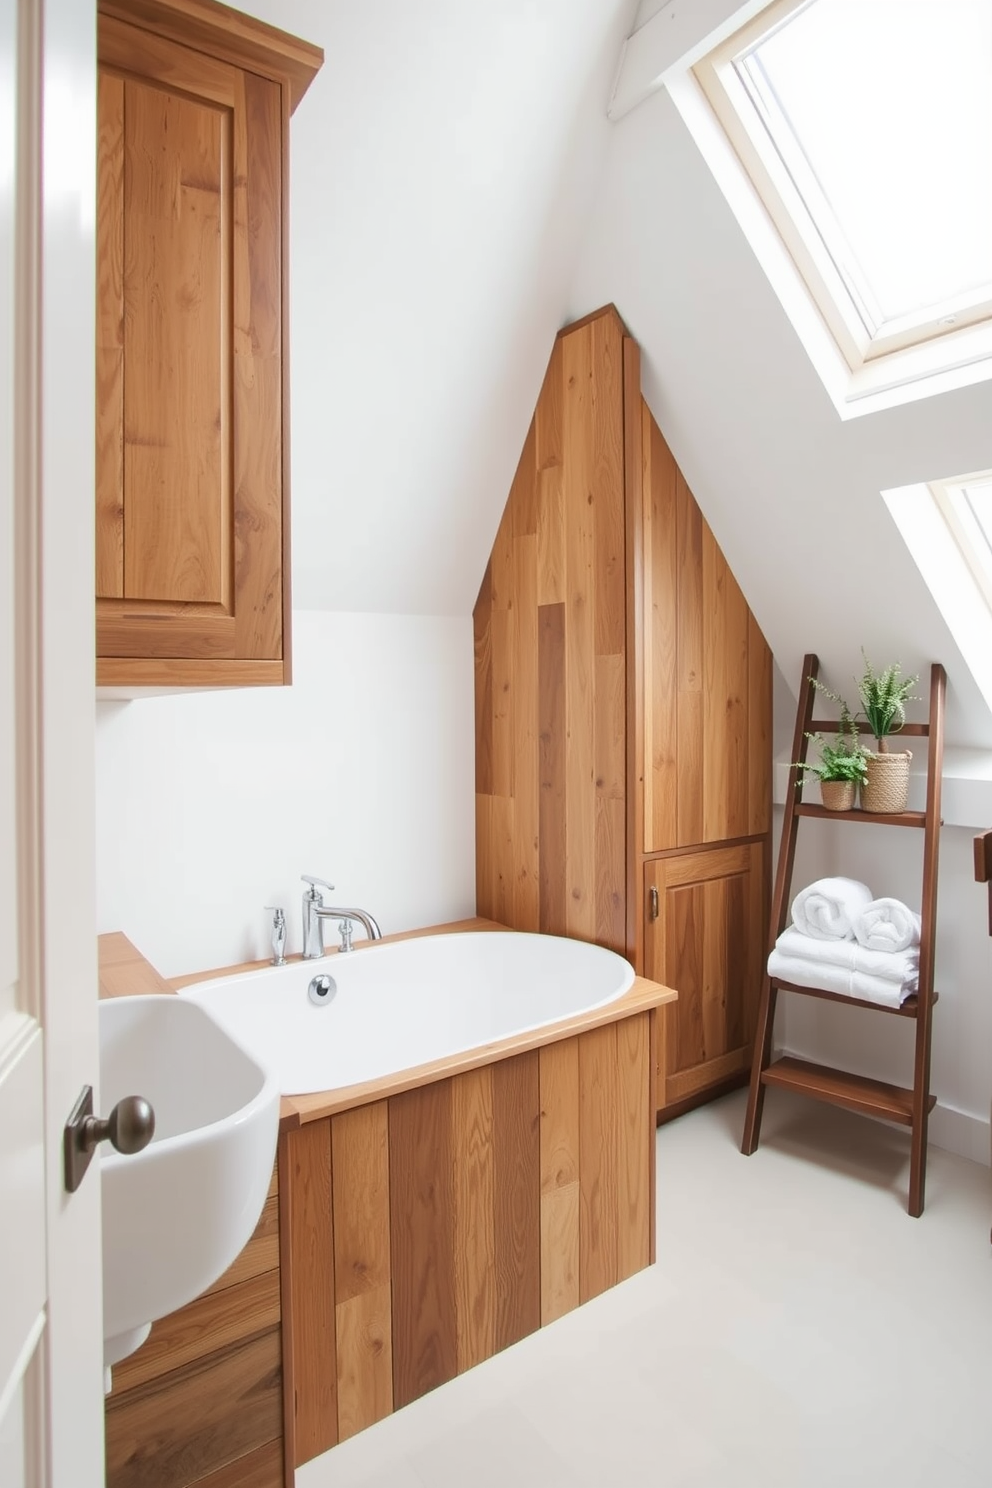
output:
[{"label": "tall pointed wooden built-in cupboard fitted beneath the sloped ceiling", "polygon": [[596,940],[677,988],[659,1115],[744,1083],[772,659],[611,307],[555,342],[474,635],[479,914]]}]

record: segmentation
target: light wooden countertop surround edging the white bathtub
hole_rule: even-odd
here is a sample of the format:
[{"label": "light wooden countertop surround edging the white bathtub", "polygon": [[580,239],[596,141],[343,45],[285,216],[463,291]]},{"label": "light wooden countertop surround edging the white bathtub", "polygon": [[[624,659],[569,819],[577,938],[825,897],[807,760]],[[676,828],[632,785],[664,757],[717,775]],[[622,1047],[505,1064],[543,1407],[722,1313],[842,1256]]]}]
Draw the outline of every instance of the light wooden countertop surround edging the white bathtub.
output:
[{"label": "light wooden countertop surround edging the white bathtub", "polygon": [[[506,926],[492,920],[455,920],[451,924],[430,926],[424,930],[408,930],[400,934],[382,936],[384,942],[412,940],[427,934],[457,934],[468,930],[506,930]],[[141,952],[120,933],[101,934],[100,948],[100,995],[125,997],[135,992],[177,992],[181,987],[195,982],[205,982],[214,976],[233,976],[239,972],[259,972],[269,966],[268,961],[242,961],[238,966],[226,966],[208,972],[193,972],[186,976],[162,978],[155,967],[146,961]],[[355,946],[361,951],[361,946]],[[336,955],[336,951],[329,951]],[[299,961],[302,957],[292,955],[289,961]],[[605,1024],[620,1022],[634,1013],[674,1003],[678,994],[671,987],[660,982],[648,982],[644,976],[637,976],[634,985],[607,1003],[605,1007],[595,1007],[584,1013],[576,1013],[556,1024],[543,1028],[532,1028],[528,1033],[515,1034],[512,1039],[498,1039],[495,1043],[479,1045],[463,1054],[452,1054],[443,1059],[433,1059],[412,1070],[400,1070],[396,1074],[384,1074],[376,1080],[366,1080],[361,1085],[348,1085],[336,1091],[320,1091],[314,1095],[284,1095],[280,1126],[290,1129],[305,1122],[318,1120],[321,1116],[332,1116],[335,1112],[348,1110],[352,1106],[366,1106],[370,1101],[384,1100],[388,1095],[400,1095],[416,1085],[430,1085],[433,1080],[448,1079],[466,1070],[476,1070],[479,1065],[491,1064],[494,1059],[506,1059],[513,1054],[526,1054],[546,1043],[556,1043],[559,1039],[574,1037],[589,1028],[602,1028]]]}]

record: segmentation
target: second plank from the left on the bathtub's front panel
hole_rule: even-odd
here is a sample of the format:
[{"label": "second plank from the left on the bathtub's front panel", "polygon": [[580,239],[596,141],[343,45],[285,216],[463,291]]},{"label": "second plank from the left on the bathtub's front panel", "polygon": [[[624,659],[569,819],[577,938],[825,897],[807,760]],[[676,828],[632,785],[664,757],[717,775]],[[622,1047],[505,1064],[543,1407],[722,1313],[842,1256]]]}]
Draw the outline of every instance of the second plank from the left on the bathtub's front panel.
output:
[{"label": "second plank from the left on the bathtub's front panel", "polygon": [[393,1409],[385,1101],[332,1117],[338,1436]]}]

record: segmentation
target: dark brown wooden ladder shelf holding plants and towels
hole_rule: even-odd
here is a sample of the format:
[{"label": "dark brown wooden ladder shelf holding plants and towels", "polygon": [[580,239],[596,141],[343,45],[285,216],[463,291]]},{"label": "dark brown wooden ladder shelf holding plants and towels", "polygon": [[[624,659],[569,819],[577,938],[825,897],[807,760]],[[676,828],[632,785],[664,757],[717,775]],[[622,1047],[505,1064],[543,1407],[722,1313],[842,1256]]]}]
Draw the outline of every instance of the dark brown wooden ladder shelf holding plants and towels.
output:
[{"label": "dark brown wooden ladder shelf holding plants and towels", "polygon": [[[814,717],[814,702],[817,690],[814,679],[818,676],[819,662],[817,656],[808,655],[803,662],[803,683],[800,686],[800,701],[796,714],[796,737],[793,740],[793,760],[806,760],[809,747],[808,734],[836,732],[837,725],[828,719]],[[808,680],[806,680],[808,679]],[[791,906],[793,866],[796,862],[796,838],[799,823],[803,817],[819,817],[830,821],[875,821],[889,827],[916,827],[924,832],[924,888],[921,903],[922,931],[919,940],[919,990],[915,997],[909,997],[901,1007],[888,1007],[880,1003],[861,1001],[857,997],[842,997],[839,992],[821,991],[815,987],[796,987],[769,978],[761,982],[761,997],[759,1003],[757,1028],[754,1037],[754,1061],[751,1064],[751,1088],[748,1094],[748,1110],[744,1122],[744,1140],[741,1152],[750,1156],[760,1138],[761,1110],[764,1092],[769,1085],[782,1086],[790,1091],[800,1091],[814,1100],[830,1101],[843,1106],[846,1110],[860,1112],[867,1116],[880,1116],[885,1120],[900,1122],[910,1128],[910,1174],[909,1174],[909,1213],[918,1217],[924,1213],[924,1192],[927,1184],[927,1122],[935,1106],[935,1097],[930,1094],[930,1043],[933,1027],[933,1009],[937,1001],[934,991],[934,933],[937,920],[937,854],[940,848],[940,775],[943,765],[944,740],[944,668],[934,664],[930,668],[930,717],[927,723],[907,723],[901,729],[903,735],[922,737],[928,740],[927,759],[927,809],[903,811],[897,815],[883,815],[872,811],[825,811],[822,806],[808,805],[800,799],[802,774],[793,768],[790,772],[790,789],[785,801],[785,817],[782,821],[782,845],[778,856],[775,875],[775,894],[772,896],[772,923],[769,930],[769,952],[779,934],[785,929]],[[870,732],[867,725],[860,725],[863,734]],[[775,1004],[779,991],[800,992],[805,997],[822,997],[834,1003],[848,1003],[852,1007],[867,1007],[873,1012],[895,1013],[900,1018],[916,1019],[916,1056],[913,1061],[913,1083],[910,1088],[885,1085],[882,1080],[869,1080],[860,1074],[848,1074],[843,1070],[830,1070],[822,1064],[811,1064],[806,1059],[791,1056],[772,1061],[772,1028],[775,1024]]]}]

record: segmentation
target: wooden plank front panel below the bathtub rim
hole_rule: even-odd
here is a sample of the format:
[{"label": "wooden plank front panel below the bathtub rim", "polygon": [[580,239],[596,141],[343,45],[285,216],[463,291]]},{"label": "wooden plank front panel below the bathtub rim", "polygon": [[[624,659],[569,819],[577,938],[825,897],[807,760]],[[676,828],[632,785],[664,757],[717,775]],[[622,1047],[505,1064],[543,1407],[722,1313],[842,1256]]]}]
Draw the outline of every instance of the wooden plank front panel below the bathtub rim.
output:
[{"label": "wooden plank front panel below the bathtub rim", "polygon": [[657,1016],[284,1132],[296,1466],[654,1259]]}]

